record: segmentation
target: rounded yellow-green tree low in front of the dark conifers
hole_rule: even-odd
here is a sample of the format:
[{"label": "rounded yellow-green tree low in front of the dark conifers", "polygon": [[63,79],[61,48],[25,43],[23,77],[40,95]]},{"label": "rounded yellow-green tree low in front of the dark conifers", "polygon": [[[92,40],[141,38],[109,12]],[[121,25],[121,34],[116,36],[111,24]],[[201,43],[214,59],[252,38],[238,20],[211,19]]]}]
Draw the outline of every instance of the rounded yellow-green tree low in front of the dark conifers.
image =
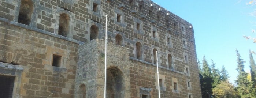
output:
[{"label": "rounded yellow-green tree low in front of the dark conifers", "polygon": [[234,86],[228,81],[220,81],[220,83],[212,89],[212,92],[212,95],[216,98],[238,98]]}]

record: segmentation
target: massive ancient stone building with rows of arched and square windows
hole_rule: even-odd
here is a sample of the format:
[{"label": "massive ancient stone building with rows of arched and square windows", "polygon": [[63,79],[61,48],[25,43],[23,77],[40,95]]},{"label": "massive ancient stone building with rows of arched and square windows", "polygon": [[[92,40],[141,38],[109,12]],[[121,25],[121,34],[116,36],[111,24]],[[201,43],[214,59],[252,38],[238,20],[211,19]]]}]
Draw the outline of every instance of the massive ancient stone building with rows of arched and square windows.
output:
[{"label": "massive ancient stone building with rows of arched and square windows", "polygon": [[103,98],[105,56],[107,98],[157,98],[158,81],[201,98],[192,24],[151,0],[0,0],[0,98]]}]

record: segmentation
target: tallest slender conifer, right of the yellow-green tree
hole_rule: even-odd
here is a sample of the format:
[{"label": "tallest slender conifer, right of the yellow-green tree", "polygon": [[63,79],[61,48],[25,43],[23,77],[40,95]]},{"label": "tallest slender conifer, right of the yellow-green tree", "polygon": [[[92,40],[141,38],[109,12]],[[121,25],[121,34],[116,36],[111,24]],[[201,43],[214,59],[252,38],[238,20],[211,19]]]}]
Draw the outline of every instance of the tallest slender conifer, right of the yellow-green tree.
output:
[{"label": "tallest slender conifer, right of the yellow-green tree", "polygon": [[[252,88],[252,82],[249,82],[247,79],[248,73],[244,71],[244,60],[241,59],[240,54],[238,50],[237,52],[237,71],[238,76],[237,80],[235,81],[237,83],[237,91],[240,94],[241,98],[255,98]],[[254,90],[255,91],[255,90]]]}]

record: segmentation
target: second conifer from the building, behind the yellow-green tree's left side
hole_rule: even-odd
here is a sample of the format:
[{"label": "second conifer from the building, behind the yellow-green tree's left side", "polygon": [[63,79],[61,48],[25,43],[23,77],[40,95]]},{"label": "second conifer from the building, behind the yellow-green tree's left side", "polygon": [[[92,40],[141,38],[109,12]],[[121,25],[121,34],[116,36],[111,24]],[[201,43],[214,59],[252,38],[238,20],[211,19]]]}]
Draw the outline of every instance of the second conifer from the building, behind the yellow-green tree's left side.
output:
[{"label": "second conifer from the building, behind the yellow-green tree's left side", "polygon": [[219,72],[219,69],[216,69],[215,68],[215,63],[214,63],[214,61],[213,60],[211,60],[212,61],[212,66],[211,66],[211,71],[212,71],[212,80],[213,80],[213,82],[212,82],[212,88],[215,88],[219,83],[220,83],[220,78],[221,78],[221,76],[220,76],[220,72]]}]

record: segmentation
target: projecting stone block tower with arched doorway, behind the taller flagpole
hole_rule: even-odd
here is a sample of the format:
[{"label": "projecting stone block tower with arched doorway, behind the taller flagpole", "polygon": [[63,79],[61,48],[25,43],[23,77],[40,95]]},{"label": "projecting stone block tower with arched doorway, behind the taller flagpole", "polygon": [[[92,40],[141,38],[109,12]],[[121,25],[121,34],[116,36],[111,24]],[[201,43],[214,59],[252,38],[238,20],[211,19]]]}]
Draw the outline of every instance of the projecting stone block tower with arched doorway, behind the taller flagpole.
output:
[{"label": "projecting stone block tower with arched doorway, behind the taller flagpole", "polygon": [[[78,49],[75,97],[104,97],[105,41],[95,39]],[[112,43],[107,46],[107,97],[131,98],[128,49]],[[83,92],[81,86],[85,85]]]}]

